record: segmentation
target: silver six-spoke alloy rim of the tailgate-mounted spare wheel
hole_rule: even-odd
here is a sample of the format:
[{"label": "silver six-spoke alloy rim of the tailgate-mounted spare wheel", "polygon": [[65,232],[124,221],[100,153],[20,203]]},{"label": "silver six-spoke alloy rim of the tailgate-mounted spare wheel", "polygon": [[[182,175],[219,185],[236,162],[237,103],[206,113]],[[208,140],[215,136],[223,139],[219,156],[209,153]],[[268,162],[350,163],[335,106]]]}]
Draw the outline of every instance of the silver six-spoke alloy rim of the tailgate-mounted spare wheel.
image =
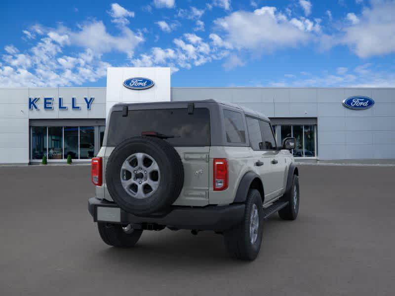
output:
[{"label": "silver six-spoke alloy rim of the tailgate-mounted spare wheel", "polygon": [[154,194],[160,182],[156,160],[146,153],[133,153],[122,163],[120,182],[130,196],[144,199]]}]

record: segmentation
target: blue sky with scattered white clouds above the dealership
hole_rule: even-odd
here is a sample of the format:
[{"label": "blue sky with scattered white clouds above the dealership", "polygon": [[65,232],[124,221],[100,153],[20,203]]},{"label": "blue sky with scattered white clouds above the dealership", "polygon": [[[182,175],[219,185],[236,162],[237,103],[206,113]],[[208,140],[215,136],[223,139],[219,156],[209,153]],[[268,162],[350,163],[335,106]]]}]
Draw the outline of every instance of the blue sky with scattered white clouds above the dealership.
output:
[{"label": "blue sky with scattered white clouds above the dealership", "polygon": [[395,0],[1,1],[0,86],[395,87]]}]

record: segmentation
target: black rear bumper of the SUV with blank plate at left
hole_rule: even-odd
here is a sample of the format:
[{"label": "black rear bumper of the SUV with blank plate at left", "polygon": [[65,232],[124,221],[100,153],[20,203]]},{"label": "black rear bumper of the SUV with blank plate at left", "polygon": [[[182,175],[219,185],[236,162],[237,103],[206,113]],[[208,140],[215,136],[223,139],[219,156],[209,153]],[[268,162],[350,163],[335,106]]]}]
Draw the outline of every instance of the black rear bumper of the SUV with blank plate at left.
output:
[{"label": "black rear bumper of the SUV with blank plate at left", "polygon": [[118,224],[153,223],[179,229],[223,231],[240,223],[244,216],[244,204],[206,207],[173,206],[165,215],[139,217],[120,209],[114,202],[92,197],[88,202],[94,222]]}]

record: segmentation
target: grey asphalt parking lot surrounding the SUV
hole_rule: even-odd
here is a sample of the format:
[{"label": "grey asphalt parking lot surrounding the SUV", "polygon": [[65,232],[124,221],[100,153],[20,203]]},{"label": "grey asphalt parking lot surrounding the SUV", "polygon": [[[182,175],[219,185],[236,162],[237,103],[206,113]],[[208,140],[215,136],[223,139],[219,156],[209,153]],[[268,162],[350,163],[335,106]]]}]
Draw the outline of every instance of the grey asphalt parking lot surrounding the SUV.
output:
[{"label": "grey asphalt parking lot surrounding the SUV", "polygon": [[395,167],[300,166],[299,217],[268,220],[253,262],[212,232],[105,245],[89,170],[0,167],[0,295],[394,295]]}]

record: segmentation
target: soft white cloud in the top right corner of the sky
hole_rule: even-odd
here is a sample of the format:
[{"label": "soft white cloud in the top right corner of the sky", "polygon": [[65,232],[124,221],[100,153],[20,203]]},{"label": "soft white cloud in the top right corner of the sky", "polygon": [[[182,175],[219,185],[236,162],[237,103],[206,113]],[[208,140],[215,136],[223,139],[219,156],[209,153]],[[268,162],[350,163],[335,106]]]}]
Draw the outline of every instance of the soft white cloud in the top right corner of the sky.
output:
[{"label": "soft white cloud in the top right corner of the sky", "polygon": [[337,43],[348,45],[361,58],[394,53],[394,11],[394,0],[372,1],[372,7],[363,8],[359,22],[347,26],[343,37],[335,37],[340,39]]}]

